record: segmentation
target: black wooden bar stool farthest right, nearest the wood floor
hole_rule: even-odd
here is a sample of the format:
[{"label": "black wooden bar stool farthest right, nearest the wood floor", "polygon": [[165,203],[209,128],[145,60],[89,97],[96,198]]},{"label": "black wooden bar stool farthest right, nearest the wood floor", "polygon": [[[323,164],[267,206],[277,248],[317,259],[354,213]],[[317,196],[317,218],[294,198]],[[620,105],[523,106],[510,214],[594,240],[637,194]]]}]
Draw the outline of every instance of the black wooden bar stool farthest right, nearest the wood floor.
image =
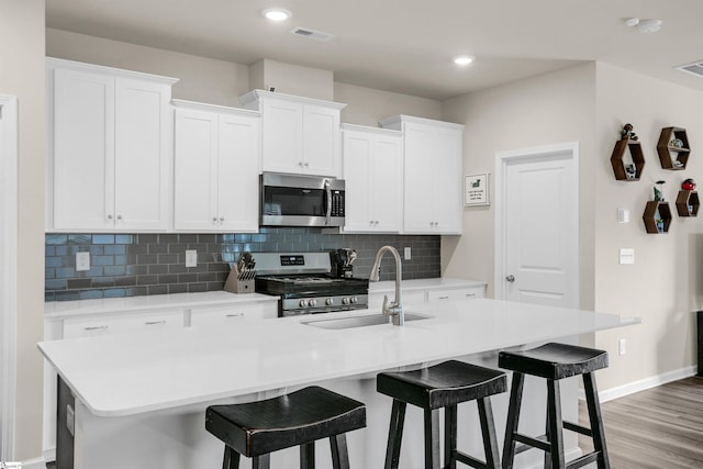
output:
[{"label": "black wooden bar stool farthest right, nearest the wood floor", "polygon": [[[501,351],[498,366],[514,371],[503,446],[503,469],[513,467],[516,454],[532,448],[545,451],[546,468],[580,468],[593,461],[598,461],[599,469],[610,468],[601,405],[595,378],[592,375],[593,371],[607,367],[606,351],[551,343],[532,350]],[[525,375],[547,379],[547,433],[536,438],[517,433]],[[590,420],[588,428],[561,418],[559,380],[577,375],[583,377]],[[563,428],[593,438],[594,451],[567,465],[563,455]]]}]

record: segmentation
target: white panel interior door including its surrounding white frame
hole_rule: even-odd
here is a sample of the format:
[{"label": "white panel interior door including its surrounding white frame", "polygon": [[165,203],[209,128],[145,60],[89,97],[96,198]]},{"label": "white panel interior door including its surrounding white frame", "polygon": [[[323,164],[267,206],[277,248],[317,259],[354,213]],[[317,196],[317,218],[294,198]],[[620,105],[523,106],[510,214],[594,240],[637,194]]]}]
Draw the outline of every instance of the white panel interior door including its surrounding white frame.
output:
[{"label": "white panel interior door including its surrounding white frame", "polygon": [[578,145],[499,154],[498,163],[496,298],[578,308]]}]

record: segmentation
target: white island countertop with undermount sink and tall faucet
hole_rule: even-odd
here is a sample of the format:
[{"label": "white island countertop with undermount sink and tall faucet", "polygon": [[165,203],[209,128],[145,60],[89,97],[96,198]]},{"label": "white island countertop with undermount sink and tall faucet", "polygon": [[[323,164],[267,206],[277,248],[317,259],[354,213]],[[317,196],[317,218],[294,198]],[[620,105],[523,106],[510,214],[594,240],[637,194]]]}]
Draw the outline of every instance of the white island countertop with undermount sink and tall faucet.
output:
[{"label": "white island countertop with undermount sink and tall faucet", "polygon": [[322,317],[298,316],[43,342],[38,347],[93,414],[121,416],[639,322],[498,300],[466,300],[412,312],[433,317],[406,322],[403,327],[382,324],[331,331],[302,323]]}]

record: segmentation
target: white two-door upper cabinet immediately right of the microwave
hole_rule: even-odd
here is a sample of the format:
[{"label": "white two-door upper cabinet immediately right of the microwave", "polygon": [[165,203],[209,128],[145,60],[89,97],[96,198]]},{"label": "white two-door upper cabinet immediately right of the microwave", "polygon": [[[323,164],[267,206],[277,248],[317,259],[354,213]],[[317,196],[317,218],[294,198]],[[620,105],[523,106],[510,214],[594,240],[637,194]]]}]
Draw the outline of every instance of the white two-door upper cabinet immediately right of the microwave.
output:
[{"label": "white two-door upper cabinet immediately right of the microwave", "polygon": [[342,125],[347,233],[402,231],[403,143],[397,131]]}]

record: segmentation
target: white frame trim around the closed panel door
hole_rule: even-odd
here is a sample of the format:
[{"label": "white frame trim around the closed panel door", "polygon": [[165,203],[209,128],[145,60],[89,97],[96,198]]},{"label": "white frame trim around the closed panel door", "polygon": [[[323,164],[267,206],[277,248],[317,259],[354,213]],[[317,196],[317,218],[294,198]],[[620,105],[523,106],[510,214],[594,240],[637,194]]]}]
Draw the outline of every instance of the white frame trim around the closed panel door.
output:
[{"label": "white frame trim around the closed panel door", "polygon": [[[506,200],[506,177],[507,166],[516,161],[532,163],[542,159],[554,158],[556,156],[565,155],[565,158],[573,161],[573,180],[572,187],[577,190],[576,206],[573,210],[577,214],[577,220],[580,220],[580,189],[579,189],[579,142],[563,142],[553,145],[543,145],[528,148],[512,149],[506,152],[495,153],[495,194],[494,194],[494,214],[495,214],[495,233],[494,233],[494,267],[493,267],[493,298],[499,300],[505,299],[505,288],[503,277],[505,276],[505,252],[506,252],[506,236],[505,236],[505,200]],[[576,246],[579,253],[576,256],[574,278],[573,282],[576,298],[573,308],[578,308],[580,304],[580,228],[577,230]]]}]

